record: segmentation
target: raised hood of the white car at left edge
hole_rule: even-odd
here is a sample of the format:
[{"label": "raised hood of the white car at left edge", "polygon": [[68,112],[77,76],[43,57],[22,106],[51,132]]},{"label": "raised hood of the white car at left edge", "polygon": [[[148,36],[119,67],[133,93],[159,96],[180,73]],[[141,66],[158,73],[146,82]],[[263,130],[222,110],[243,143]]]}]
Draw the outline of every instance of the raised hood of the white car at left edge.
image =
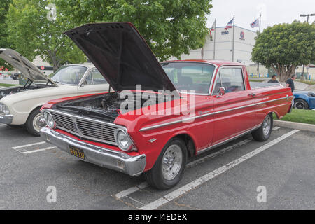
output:
[{"label": "raised hood of the white car at left edge", "polygon": [[12,49],[0,49],[0,57],[18,69],[26,78],[31,81],[49,81],[54,83],[48,76],[45,76],[33,63],[18,52]]}]

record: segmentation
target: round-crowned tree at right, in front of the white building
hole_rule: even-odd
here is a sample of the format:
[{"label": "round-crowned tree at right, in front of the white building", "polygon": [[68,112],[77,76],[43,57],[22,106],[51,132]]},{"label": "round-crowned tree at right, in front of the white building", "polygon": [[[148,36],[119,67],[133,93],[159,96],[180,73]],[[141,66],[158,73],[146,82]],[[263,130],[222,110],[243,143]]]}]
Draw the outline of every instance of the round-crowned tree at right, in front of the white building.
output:
[{"label": "round-crowned tree at right, in front of the white building", "polygon": [[315,25],[294,21],[267,27],[256,38],[251,55],[253,62],[271,67],[284,82],[297,66],[315,61]]}]

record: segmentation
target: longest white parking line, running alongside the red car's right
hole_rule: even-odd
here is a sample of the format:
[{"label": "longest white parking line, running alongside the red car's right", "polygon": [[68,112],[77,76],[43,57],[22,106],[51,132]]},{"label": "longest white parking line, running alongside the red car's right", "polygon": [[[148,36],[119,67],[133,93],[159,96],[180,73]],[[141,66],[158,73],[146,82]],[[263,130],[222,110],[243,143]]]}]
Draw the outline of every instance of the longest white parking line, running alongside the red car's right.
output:
[{"label": "longest white parking line, running alongside the red car's right", "polygon": [[286,139],[290,137],[291,135],[295,134],[296,132],[299,132],[300,130],[292,130],[286,134],[283,134],[283,136],[278,137],[274,139],[273,141],[269,141],[267,144],[260,146],[259,148],[255,149],[254,151],[251,151],[250,153],[247,153],[246,155],[241,156],[240,158],[237,158],[236,160],[233,160],[232,162],[229,162],[228,164],[219,167],[218,169],[214,170],[213,172],[210,172],[199,179],[196,179],[195,181],[191,181],[190,183],[186,184],[185,186],[172,191],[171,193],[165,195],[164,197],[161,197],[158,200],[155,200],[154,202],[151,202],[150,204],[145,205],[144,207],[141,207],[141,210],[153,210],[158,209],[158,207],[161,207],[164,204],[167,204],[168,202],[171,202],[172,200],[176,199],[177,197],[187,193],[190,190],[193,190],[194,188],[197,188],[197,186],[200,186],[202,183],[205,183],[214,177],[228,171],[229,169],[232,169],[232,167],[235,167],[239,165],[241,162],[244,162],[248,160],[249,158],[252,158],[253,156],[257,155],[258,153],[261,153],[262,151],[265,151],[267,148],[270,148],[271,146],[274,146],[275,144],[278,144],[283,139]]}]

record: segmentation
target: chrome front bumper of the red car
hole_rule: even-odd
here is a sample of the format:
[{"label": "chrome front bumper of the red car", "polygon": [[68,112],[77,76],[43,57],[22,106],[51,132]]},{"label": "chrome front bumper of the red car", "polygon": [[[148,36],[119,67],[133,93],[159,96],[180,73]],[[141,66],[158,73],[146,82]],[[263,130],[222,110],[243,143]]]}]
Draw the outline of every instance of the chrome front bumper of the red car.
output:
[{"label": "chrome front bumper of the red car", "polygon": [[115,169],[130,176],[139,176],[144,172],[144,168],[146,167],[146,155],[144,154],[130,156],[127,153],[86,144],[47,127],[41,129],[41,138],[69,154],[69,146],[80,148],[84,151],[86,162]]}]

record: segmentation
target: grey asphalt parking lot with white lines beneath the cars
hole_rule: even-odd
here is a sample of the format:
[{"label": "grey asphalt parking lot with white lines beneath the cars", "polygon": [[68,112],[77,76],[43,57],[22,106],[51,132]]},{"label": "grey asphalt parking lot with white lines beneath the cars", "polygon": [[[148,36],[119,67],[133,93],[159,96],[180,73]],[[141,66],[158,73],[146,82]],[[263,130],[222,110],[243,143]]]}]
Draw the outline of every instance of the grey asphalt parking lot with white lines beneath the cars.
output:
[{"label": "grey asphalt parking lot with white lines beneath the cars", "polygon": [[190,159],[166,191],[73,158],[21,126],[0,124],[0,152],[0,209],[315,209],[314,132],[274,127],[266,142],[247,134]]}]

